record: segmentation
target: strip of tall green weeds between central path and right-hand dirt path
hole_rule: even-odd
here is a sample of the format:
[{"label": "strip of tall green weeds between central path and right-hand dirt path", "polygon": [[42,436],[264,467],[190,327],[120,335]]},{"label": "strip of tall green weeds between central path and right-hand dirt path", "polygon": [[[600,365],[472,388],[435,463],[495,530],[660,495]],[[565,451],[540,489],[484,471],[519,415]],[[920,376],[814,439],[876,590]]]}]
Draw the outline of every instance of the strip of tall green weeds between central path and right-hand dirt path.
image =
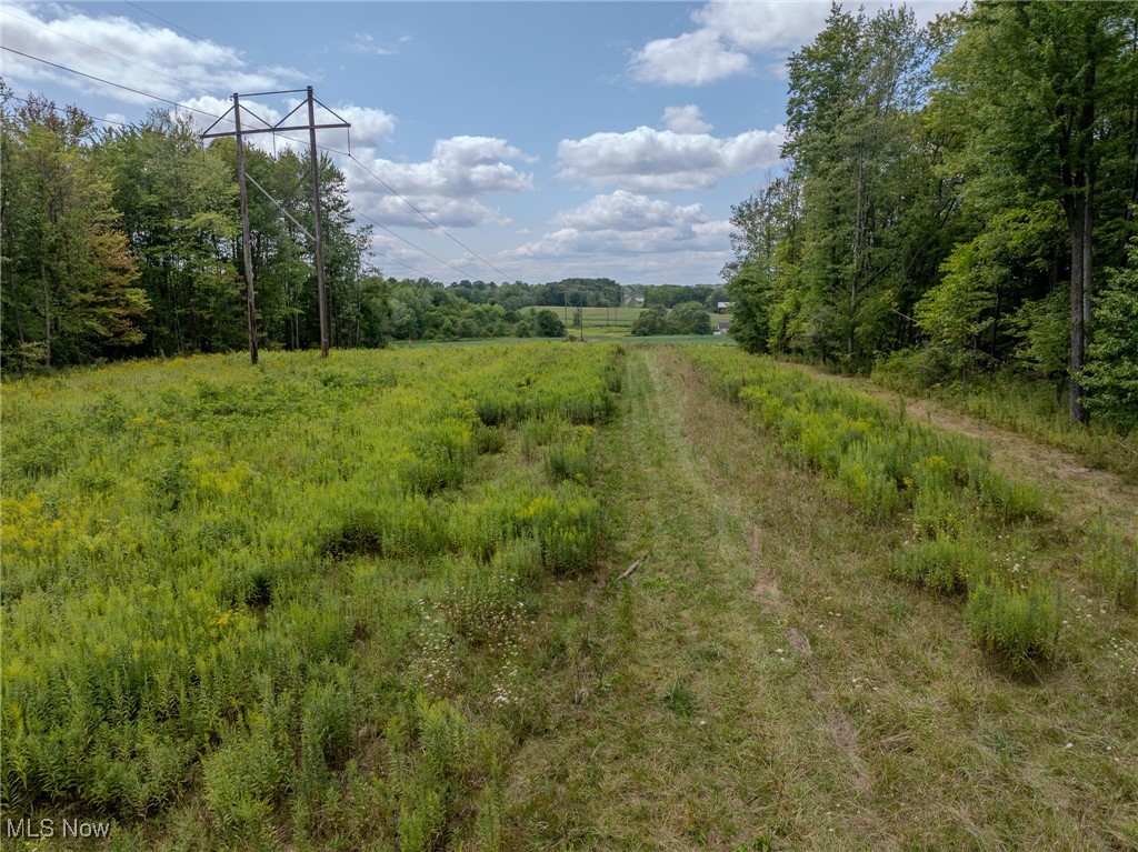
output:
[{"label": "strip of tall green weeds between central path and right-hand dirt path", "polygon": [[968,629],[986,653],[1013,669],[1054,656],[1061,604],[1052,587],[1036,574],[1003,586],[989,571],[999,533],[1048,520],[1038,487],[1007,479],[983,444],[913,423],[834,382],[737,350],[688,357],[866,522],[896,524],[906,514],[908,538],[890,571],[941,594],[967,593]]}]

